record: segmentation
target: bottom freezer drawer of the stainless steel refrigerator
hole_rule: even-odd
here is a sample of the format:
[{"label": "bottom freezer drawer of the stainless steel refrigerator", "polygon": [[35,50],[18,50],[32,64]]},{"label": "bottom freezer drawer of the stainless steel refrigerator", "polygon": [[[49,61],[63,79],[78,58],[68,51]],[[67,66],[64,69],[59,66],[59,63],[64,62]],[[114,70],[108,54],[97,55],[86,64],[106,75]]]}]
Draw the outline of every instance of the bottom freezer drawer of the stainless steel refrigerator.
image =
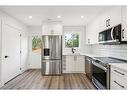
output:
[{"label": "bottom freezer drawer of the stainless steel refrigerator", "polygon": [[61,60],[43,60],[42,75],[60,75],[62,73],[61,67]]}]

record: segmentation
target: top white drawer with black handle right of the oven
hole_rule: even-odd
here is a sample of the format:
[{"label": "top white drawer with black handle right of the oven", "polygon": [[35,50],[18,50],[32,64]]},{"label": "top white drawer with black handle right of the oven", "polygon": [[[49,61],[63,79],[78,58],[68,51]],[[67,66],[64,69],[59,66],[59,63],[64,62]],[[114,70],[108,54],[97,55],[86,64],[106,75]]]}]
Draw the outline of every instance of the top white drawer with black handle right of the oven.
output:
[{"label": "top white drawer with black handle right of the oven", "polygon": [[111,73],[116,74],[117,76],[127,80],[127,72],[119,68],[111,67]]}]

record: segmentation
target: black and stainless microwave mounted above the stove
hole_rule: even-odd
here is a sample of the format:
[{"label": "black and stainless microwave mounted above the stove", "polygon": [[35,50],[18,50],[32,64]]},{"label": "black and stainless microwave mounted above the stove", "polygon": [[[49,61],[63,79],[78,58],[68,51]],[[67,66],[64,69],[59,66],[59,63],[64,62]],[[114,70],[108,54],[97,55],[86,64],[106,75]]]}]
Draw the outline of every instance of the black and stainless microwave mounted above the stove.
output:
[{"label": "black and stainless microwave mounted above the stove", "polygon": [[100,44],[127,44],[127,41],[122,41],[121,24],[100,32],[98,41]]}]

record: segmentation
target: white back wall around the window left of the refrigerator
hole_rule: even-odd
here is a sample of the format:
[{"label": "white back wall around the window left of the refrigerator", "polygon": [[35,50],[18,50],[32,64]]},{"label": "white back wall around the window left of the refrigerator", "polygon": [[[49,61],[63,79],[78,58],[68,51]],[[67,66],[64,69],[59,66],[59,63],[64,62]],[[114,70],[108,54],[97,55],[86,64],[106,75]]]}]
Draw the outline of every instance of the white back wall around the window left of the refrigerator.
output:
[{"label": "white back wall around the window left of the refrigerator", "polygon": [[41,68],[41,53],[32,52],[32,35],[42,35],[40,27],[29,27],[29,64],[28,68],[38,69]]}]

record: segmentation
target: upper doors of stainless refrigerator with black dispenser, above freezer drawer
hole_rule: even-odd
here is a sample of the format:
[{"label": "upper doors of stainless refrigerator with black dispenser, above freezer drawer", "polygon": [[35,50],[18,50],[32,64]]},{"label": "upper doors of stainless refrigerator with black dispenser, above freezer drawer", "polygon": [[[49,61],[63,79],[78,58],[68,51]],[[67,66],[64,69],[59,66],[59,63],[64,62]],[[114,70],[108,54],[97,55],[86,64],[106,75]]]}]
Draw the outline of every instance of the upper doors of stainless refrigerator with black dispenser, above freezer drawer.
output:
[{"label": "upper doors of stainless refrigerator with black dispenser, above freezer drawer", "polygon": [[[43,41],[42,59],[52,60],[52,59],[62,58],[61,36],[42,36],[42,41]],[[44,54],[49,54],[49,55],[44,55]]]}]

